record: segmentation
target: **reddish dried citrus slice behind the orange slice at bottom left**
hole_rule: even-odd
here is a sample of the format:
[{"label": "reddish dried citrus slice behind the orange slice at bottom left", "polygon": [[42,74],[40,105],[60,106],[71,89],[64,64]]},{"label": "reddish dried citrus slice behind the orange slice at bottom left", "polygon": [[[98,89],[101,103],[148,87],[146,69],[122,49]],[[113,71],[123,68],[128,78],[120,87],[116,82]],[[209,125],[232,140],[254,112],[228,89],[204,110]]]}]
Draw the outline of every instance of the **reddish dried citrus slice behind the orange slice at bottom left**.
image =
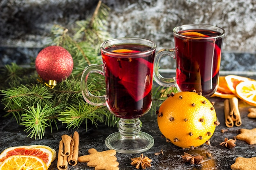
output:
[{"label": "reddish dried citrus slice behind the orange slice at bottom left", "polygon": [[0,163],[2,163],[5,159],[13,155],[25,155],[25,156],[38,157],[45,162],[48,168],[52,163],[52,157],[53,157],[52,152],[45,148],[33,148],[30,146],[13,146],[5,149],[0,154]]}]

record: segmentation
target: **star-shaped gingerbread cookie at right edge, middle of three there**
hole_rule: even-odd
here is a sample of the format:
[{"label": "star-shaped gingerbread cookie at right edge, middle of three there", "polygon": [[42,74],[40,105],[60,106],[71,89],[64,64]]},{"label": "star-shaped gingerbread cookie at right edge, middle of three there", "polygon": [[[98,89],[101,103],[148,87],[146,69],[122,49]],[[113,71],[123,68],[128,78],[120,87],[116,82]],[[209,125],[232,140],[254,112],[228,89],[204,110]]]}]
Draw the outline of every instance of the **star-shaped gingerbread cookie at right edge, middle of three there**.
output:
[{"label": "star-shaped gingerbread cookie at right edge, middle of three there", "polygon": [[247,144],[256,144],[256,128],[241,129],[241,133],[236,135],[236,139],[246,141]]}]

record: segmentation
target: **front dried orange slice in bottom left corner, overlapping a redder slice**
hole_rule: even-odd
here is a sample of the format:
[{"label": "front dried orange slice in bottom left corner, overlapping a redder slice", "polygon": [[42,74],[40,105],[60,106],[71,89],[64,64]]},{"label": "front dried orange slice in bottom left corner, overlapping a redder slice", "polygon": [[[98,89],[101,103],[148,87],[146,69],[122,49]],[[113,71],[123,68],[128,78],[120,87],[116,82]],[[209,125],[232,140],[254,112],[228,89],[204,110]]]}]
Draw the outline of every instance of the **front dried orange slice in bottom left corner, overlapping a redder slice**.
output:
[{"label": "front dried orange slice in bottom left corner, overlapping a redder slice", "polygon": [[0,170],[47,170],[47,166],[38,157],[13,155],[4,160]]}]

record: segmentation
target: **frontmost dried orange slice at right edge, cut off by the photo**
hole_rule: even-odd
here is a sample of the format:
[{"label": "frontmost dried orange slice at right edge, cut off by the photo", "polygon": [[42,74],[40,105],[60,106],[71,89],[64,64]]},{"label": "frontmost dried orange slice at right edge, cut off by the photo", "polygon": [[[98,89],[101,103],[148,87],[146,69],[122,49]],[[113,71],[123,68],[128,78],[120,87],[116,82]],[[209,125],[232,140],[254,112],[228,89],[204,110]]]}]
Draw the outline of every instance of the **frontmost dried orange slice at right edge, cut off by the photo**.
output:
[{"label": "frontmost dried orange slice at right edge, cut off by the photo", "polygon": [[240,82],[236,86],[236,95],[246,103],[256,106],[256,81]]}]

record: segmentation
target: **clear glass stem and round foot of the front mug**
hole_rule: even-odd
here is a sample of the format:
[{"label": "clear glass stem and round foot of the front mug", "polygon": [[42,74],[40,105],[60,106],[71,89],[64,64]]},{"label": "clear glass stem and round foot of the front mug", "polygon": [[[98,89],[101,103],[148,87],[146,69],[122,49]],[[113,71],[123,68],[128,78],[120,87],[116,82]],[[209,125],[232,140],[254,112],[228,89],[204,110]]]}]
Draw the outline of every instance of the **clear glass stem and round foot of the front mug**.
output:
[{"label": "clear glass stem and round foot of the front mug", "polygon": [[139,124],[139,119],[120,119],[119,132],[112,133],[106,138],[106,146],[125,154],[149,150],[154,145],[154,138],[148,133],[141,132]]}]

